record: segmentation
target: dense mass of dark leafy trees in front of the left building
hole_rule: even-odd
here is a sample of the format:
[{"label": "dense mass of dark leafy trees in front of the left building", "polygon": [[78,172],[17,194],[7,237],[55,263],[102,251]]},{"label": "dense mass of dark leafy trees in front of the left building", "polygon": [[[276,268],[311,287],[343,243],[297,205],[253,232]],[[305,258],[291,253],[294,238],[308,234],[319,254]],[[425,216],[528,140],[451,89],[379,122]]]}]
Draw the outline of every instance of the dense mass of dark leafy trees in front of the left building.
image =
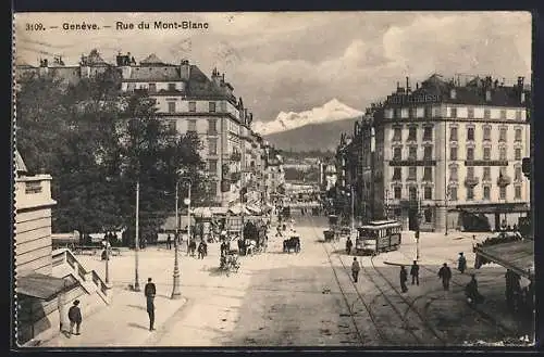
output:
[{"label": "dense mass of dark leafy trees in front of the left building", "polygon": [[53,231],[134,227],[137,181],[140,229],[156,231],[173,213],[178,169],[207,197],[198,137],[165,125],[146,93],[121,92],[114,68],[76,85],[29,74],[18,88],[16,146],[30,174],[53,177]]}]

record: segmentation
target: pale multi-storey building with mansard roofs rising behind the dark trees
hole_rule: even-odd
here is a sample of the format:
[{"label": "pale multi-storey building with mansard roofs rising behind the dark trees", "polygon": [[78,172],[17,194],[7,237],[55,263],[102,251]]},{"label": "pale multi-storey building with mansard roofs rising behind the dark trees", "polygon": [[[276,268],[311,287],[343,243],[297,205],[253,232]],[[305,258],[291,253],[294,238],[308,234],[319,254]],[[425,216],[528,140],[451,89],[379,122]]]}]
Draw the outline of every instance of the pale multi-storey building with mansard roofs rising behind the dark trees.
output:
[{"label": "pale multi-storey building with mansard roofs rising behind the dark trees", "polygon": [[240,187],[258,174],[256,161],[263,148],[251,130],[252,113],[242,98],[234,95],[234,87],[219,71],[213,69],[208,77],[188,60],[171,64],[154,54],[137,63],[129,52],[120,53],[115,64],[109,64],[92,50],[77,66],[66,66],[62,59],[52,63],[42,60],[39,67],[18,66],[17,73],[34,72],[75,84],[111,67],[121,73],[123,92],[145,91],[156,100],[157,114],[171,128],[198,135],[211,201],[227,206],[239,200]]}]

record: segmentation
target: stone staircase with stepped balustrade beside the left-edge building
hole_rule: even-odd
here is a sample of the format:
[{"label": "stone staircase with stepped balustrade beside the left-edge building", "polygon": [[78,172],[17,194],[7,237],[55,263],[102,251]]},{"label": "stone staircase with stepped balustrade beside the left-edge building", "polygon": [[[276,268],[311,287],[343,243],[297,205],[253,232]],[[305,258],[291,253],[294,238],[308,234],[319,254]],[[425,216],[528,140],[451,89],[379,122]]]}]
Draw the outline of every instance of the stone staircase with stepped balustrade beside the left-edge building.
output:
[{"label": "stone staircase with stepped balustrade beside the left-edge building", "polygon": [[85,269],[72,251],[67,248],[54,250],[52,260],[53,277],[65,278],[72,276],[79,282],[87,294],[96,293],[106,304],[110,304],[109,286],[95,270]]}]

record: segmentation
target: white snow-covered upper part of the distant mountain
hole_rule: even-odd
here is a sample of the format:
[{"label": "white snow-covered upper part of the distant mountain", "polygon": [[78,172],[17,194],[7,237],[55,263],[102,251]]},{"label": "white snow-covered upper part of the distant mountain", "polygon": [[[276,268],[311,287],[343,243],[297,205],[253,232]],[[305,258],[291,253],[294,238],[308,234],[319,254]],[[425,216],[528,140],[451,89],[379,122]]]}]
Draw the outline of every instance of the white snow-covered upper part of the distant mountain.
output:
[{"label": "white snow-covered upper part of the distant mountain", "polygon": [[300,113],[281,112],[271,122],[255,122],[254,130],[268,136],[275,132],[293,130],[311,124],[324,124],[361,116],[363,113],[333,99],[322,106]]}]

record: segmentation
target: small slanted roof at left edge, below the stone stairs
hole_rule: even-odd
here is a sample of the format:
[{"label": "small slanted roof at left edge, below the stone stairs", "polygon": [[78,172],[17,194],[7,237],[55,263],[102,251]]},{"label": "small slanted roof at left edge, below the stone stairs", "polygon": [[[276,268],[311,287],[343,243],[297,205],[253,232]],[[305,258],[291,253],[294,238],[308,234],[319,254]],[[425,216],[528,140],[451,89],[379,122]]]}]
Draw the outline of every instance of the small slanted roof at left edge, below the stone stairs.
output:
[{"label": "small slanted roof at left edge, below the stone stairs", "polygon": [[61,292],[69,290],[77,284],[78,282],[75,279],[70,280],[54,278],[42,273],[32,273],[17,278],[17,286],[15,288],[15,292],[17,294],[49,301],[55,297]]}]

